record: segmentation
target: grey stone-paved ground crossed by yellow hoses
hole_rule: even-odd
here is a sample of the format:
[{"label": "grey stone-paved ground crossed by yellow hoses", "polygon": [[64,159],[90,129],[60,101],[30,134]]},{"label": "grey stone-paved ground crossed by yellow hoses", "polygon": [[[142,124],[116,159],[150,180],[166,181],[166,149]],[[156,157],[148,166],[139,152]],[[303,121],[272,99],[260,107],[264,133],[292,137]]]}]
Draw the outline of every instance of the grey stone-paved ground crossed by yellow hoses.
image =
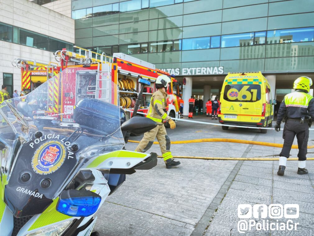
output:
[{"label": "grey stone-paved ground crossed by yellow hoses", "polygon": [[[208,121],[206,117],[202,120]],[[214,121],[215,122],[215,121]],[[282,143],[282,132],[194,125],[177,122],[167,129],[172,140],[237,138]],[[130,137],[140,140],[142,137]],[[313,140],[312,140],[313,139]],[[309,145],[313,145],[310,132]],[[295,140],[296,144],[296,140]],[[134,150],[136,143],[127,143]],[[280,148],[238,143],[191,143],[171,146],[173,155],[213,157],[277,156]],[[159,145],[148,152],[160,154]],[[296,157],[297,149],[291,150]],[[308,157],[314,157],[309,149]],[[162,159],[151,170],[138,170],[110,195],[98,211],[95,230],[100,235],[314,235],[314,161],[307,161],[308,175],[297,175],[297,161],[288,161],[284,177],[277,176],[278,161],[180,159],[166,169]],[[239,204],[299,204],[295,231],[247,230],[239,233]],[[251,218],[254,219],[254,218]],[[267,218],[269,222],[271,219]],[[267,220],[266,219],[266,220]],[[254,219],[262,222],[262,219]],[[286,219],[278,219],[286,222]],[[295,221],[297,220],[297,221]]]}]

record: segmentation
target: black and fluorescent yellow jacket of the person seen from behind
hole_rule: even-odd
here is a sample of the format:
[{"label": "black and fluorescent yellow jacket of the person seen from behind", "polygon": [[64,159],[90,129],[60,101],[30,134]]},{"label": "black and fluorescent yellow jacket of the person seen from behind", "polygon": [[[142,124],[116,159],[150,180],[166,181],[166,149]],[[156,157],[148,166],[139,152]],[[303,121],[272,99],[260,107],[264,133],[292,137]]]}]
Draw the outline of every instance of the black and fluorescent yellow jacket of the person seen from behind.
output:
[{"label": "black and fluorescent yellow jacket of the person seen from behind", "polygon": [[280,124],[286,115],[287,118],[300,119],[302,117],[311,117],[314,120],[314,99],[301,90],[294,93],[288,93],[280,104],[277,123]]}]

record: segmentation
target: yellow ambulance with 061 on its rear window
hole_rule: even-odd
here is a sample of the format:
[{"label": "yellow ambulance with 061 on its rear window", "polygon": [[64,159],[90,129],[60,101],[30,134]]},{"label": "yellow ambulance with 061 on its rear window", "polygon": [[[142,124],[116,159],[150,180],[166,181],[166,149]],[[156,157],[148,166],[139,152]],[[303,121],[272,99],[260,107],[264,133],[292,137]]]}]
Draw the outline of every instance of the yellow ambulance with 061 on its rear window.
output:
[{"label": "yellow ambulance with 061 on its rear window", "polygon": [[[273,103],[267,79],[259,72],[228,73],[220,94],[219,122],[226,125],[271,127]],[[229,126],[222,126],[227,130]],[[267,129],[261,129],[266,133]]]}]

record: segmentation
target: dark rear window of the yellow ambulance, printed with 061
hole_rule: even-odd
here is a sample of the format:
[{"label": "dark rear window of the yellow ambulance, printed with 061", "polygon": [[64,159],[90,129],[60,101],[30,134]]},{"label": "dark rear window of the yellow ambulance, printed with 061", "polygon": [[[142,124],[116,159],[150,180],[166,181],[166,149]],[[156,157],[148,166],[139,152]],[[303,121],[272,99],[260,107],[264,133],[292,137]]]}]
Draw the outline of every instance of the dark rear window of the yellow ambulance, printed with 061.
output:
[{"label": "dark rear window of the yellow ambulance, printed with 061", "polygon": [[225,86],[224,99],[229,102],[256,102],[261,100],[259,84],[228,84]]}]

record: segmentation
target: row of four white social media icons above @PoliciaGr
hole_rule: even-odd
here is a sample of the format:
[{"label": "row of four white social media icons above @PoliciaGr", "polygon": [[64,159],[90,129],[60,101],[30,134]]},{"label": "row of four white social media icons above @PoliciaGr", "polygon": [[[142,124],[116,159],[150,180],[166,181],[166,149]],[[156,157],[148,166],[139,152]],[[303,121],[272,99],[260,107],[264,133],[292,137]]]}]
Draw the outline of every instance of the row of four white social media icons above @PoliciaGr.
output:
[{"label": "row of four white social media icons above @PoliciaGr", "polygon": [[267,216],[271,219],[286,219],[299,218],[298,204],[239,204],[238,217],[241,219],[260,218],[265,219]]}]

